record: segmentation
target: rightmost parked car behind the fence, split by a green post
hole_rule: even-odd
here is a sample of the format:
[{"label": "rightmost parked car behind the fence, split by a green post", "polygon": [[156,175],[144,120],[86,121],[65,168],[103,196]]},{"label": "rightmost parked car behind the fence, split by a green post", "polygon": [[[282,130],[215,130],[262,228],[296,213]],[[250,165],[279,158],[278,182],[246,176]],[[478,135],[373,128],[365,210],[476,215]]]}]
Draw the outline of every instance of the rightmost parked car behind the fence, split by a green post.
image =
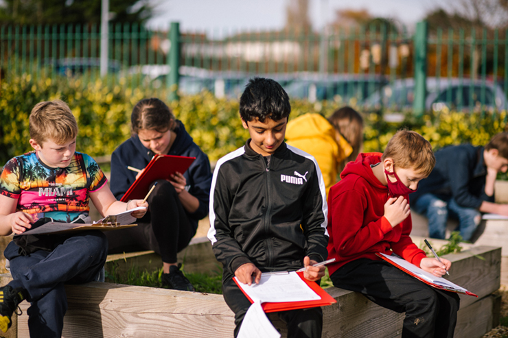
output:
[{"label": "rightmost parked car behind the fence, split by a green post", "polygon": [[[507,99],[500,86],[493,82],[452,77],[427,77],[425,109],[440,111],[443,108],[470,111],[502,110]],[[377,90],[365,100],[365,110],[387,108],[392,111],[411,111],[415,100],[415,80],[395,80]]]}]

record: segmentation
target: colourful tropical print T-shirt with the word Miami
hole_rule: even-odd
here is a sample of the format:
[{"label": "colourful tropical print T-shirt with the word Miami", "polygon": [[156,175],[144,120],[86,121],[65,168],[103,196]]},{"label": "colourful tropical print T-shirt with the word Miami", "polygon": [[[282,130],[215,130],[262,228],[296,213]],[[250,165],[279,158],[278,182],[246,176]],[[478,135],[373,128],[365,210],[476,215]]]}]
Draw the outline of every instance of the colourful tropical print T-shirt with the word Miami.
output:
[{"label": "colourful tropical print T-shirt with the word Miami", "polygon": [[106,176],[90,156],[75,152],[65,168],[51,168],[36,151],[12,158],[0,178],[0,195],[18,199],[18,210],[37,221],[51,217],[71,222],[89,213],[89,191],[106,184]]}]

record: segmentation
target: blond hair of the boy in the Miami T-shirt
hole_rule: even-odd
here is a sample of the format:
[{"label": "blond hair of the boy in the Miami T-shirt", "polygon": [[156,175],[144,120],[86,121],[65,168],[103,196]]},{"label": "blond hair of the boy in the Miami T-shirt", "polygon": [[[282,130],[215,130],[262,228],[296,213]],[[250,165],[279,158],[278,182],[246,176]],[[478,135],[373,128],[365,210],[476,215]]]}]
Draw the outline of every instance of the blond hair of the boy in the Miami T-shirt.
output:
[{"label": "blond hair of the boy in the Miami T-shirt", "polygon": [[44,101],[30,113],[30,138],[42,145],[48,139],[62,144],[78,135],[78,123],[64,101]]}]

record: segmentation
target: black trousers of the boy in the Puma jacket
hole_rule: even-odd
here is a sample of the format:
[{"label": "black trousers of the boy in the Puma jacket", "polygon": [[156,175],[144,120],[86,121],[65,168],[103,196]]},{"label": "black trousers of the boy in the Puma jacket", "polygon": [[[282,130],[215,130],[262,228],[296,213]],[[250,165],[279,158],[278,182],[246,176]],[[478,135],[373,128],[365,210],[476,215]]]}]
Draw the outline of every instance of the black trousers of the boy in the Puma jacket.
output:
[{"label": "black trousers of the boy in the Puma jacket", "polygon": [[[245,297],[233,278],[222,283],[222,293],[227,306],[235,313],[235,337],[238,336],[240,326],[249,310],[251,302]],[[277,312],[277,317],[288,327],[288,337],[319,338],[323,330],[323,311],[321,307]],[[268,316],[270,319],[271,316]]]}]

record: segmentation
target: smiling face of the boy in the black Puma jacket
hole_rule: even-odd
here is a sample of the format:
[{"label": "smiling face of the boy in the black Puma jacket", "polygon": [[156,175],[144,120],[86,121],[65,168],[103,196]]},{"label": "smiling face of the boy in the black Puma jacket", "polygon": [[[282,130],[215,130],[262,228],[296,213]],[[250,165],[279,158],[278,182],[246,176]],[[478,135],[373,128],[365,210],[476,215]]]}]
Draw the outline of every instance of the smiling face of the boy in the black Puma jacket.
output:
[{"label": "smiling face of the boy in the black Puma jacket", "polygon": [[287,124],[287,117],[277,121],[267,118],[264,122],[257,118],[248,122],[242,120],[242,125],[251,135],[251,148],[262,156],[273,154],[284,142]]}]

